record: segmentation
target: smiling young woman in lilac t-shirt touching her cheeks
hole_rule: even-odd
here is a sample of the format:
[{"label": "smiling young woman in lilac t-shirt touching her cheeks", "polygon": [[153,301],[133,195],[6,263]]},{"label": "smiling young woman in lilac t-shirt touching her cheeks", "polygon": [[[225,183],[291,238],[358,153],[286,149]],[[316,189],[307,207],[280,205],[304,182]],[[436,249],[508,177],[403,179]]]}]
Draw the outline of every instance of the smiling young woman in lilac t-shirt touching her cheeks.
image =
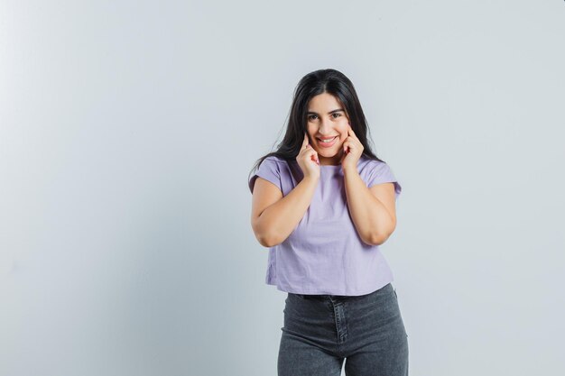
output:
[{"label": "smiling young woman in lilac t-shirt touching her cheeks", "polygon": [[[401,186],[367,143],[351,81],[301,78],[277,151],[249,179],[251,225],[269,247],[265,282],[285,291],[278,374],[408,374],[408,341],[379,245]],[[255,169],[254,169],[255,170]]]}]

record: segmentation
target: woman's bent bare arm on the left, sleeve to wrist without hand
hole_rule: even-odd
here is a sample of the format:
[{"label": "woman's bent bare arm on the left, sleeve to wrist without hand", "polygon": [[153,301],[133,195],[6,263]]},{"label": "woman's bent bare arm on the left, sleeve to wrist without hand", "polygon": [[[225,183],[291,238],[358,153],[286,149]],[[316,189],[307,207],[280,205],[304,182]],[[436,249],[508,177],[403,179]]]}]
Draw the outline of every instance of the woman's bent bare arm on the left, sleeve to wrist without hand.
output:
[{"label": "woman's bent bare arm on the left, sleeve to wrist without hand", "polygon": [[292,233],[310,206],[318,180],[304,177],[285,197],[270,181],[255,180],[251,226],[261,245],[273,247]]}]

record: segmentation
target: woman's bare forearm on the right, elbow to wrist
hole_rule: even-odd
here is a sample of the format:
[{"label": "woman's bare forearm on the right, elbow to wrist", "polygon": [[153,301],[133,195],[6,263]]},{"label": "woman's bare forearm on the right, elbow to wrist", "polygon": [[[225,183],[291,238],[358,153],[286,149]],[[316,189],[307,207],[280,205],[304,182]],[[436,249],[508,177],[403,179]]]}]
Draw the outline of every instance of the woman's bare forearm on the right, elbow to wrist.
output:
[{"label": "woman's bare forearm on the right, elbow to wrist", "polygon": [[357,233],[367,244],[384,243],[394,231],[395,221],[356,170],[344,170],[347,206]]}]

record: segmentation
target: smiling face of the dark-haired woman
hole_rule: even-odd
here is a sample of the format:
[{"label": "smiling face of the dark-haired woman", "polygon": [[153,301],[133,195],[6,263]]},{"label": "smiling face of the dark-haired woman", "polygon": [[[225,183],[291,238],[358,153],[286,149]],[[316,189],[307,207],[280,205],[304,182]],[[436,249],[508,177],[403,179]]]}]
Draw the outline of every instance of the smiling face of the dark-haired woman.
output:
[{"label": "smiling face of the dark-haired woman", "polygon": [[[335,96],[322,93],[308,104],[307,130],[310,146],[318,152],[320,164],[338,165],[347,138],[349,118]],[[322,140],[330,139],[329,142]]]}]

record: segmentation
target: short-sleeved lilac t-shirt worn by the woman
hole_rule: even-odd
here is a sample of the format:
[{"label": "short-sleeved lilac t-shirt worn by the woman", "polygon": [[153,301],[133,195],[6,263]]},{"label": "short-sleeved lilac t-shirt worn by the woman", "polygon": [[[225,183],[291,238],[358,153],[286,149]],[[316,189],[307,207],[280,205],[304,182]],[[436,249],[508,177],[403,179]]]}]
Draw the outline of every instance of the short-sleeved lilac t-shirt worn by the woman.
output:
[{"label": "short-sleeved lilac t-shirt worn by the woman", "polygon": [[[394,182],[395,197],[402,188],[389,166],[361,156],[357,170],[366,186]],[[303,178],[296,160],[270,156],[249,179],[272,182],[286,196]],[[292,234],[269,248],[265,283],[295,294],[358,296],[393,281],[377,245],[364,243],[347,208],[341,165],[320,165],[320,180],[310,206]]]}]

